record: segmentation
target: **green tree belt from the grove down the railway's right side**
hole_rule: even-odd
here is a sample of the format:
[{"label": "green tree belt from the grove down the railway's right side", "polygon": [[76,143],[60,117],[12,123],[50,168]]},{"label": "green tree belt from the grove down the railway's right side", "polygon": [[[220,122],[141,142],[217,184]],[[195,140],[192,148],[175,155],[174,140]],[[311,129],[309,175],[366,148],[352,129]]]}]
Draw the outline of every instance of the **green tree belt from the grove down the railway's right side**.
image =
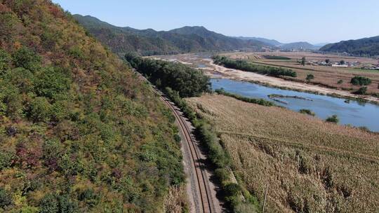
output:
[{"label": "green tree belt from the grove down the railway's right side", "polygon": [[[232,181],[230,177],[230,158],[218,142],[218,137],[213,132],[212,126],[197,116],[187,106],[185,100],[182,99],[182,97],[200,96],[204,92],[210,92],[208,77],[204,76],[201,71],[181,63],[144,59],[133,53],[126,54],[125,58],[132,67],[147,76],[150,82],[166,93],[194,125],[194,135],[206,148],[211,163],[216,167],[215,177],[220,182],[223,198],[230,209],[233,212],[253,212],[259,203],[243,186]],[[222,90],[219,90],[219,92],[222,92]],[[246,101],[256,102],[265,106],[273,105],[263,99],[246,99]],[[241,198],[242,194],[244,199]]]}]

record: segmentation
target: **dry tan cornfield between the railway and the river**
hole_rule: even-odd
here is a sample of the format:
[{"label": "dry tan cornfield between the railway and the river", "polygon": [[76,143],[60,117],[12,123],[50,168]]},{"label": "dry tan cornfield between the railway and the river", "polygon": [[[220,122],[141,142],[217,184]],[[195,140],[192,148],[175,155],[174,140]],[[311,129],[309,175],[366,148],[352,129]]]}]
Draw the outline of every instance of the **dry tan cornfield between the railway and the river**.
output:
[{"label": "dry tan cornfield between the railway and the river", "polygon": [[378,212],[379,135],[222,95],[186,99],[267,212]]}]

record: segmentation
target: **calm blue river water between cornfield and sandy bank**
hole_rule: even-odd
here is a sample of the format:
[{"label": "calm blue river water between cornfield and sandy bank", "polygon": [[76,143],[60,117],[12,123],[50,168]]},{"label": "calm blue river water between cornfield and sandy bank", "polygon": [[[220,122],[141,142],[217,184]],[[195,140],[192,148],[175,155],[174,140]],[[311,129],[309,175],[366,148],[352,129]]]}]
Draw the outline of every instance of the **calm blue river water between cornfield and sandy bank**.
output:
[{"label": "calm blue river water between cornfield and sandy bank", "polygon": [[246,97],[263,98],[272,102],[275,101],[270,99],[268,95],[275,94],[304,97],[305,99],[277,97],[276,99],[280,102],[275,102],[275,104],[293,111],[310,109],[321,119],[326,119],[335,114],[340,118],[340,124],[342,125],[350,124],[356,127],[365,126],[371,131],[379,132],[379,106],[375,104],[361,103],[357,101],[346,103],[345,99],[338,97],[315,95],[293,90],[281,90],[279,88],[270,88],[256,83],[233,81],[230,79],[213,78],[211,79],[211,83],[213,90],[224,88],[227,92]]}]

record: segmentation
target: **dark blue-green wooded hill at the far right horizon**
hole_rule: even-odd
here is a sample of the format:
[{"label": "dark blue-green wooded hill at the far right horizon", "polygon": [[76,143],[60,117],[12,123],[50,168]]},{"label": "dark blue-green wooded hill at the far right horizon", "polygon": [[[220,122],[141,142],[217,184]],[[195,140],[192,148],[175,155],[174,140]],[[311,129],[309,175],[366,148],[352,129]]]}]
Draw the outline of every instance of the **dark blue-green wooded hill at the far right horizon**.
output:
[{"label": "dark blue-green wooded hill at the far right horizon", "polygon": [[348,53],[358,56],[378,56],[379,55],[379,36],[370,38],[340,41],[330,43],[320,48],[320,51],[326,53]]}]

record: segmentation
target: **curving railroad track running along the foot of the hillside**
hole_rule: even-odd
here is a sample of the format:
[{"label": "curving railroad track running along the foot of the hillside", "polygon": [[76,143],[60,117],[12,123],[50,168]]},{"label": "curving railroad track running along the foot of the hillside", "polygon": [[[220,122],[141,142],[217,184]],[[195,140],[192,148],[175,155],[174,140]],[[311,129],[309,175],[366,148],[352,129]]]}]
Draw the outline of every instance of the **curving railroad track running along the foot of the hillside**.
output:
[{"label": "curving railroad track running along the foot of the hillside", "polygon": [[199,193],[200,193],[200,202],[201,207],[199,209],[202,210],[204,213],[213,213],[215,212],[211,192],[209,189],[208,179],[206,176],[206,172],[204,171],[204,165],[202,165],[201,156],[199,153],[199,149],[197,149],[197,144],[195,144],[194,139],[191,136],[191,130],[189,130],[188,126],[185,124],[185,119],[178,114],[178,111],[173,107],[173,104],[169,102],[165,97],[162,97],[161,94],[159,94],[161,99],[164,101],[164,103],[173,111],[173,114],[176,118],[176,121],[178,121],[180,129],[183,133],[183,136],[185,137],[185,142],[188,143],[190,156],[192,158],[191,164],[192,167],[194,167],[194,173],[197,178],[197,186],[199,187]]}]

